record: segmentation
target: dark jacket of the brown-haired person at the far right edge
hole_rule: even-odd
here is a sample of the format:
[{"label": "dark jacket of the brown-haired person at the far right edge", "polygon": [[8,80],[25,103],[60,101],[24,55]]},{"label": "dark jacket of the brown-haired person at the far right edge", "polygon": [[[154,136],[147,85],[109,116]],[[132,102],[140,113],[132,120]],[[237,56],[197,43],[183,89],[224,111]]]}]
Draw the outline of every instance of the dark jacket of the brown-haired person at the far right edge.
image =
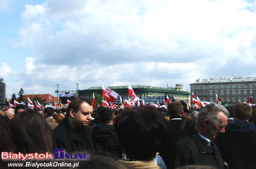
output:
[{"label": "dark jacket of the brown-haired person at the far right edge", "polygon": [[256,127],[236,120],[217,137],[217,145],[229,168],[256,167]]}]

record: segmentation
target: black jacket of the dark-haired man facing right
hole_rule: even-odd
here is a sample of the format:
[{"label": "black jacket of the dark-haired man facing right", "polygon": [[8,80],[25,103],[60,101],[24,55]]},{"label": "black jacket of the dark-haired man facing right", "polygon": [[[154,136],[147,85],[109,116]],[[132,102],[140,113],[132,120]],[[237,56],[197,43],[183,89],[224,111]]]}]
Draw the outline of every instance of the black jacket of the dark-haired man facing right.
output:
[{"label": "black jacket of the dark-haired man facing right", "polygon": [[81,150],[93,150],[91,134],[82,127],[72,128],[67,118],[53,130],[53,148],[63,148],[68,153]]}]

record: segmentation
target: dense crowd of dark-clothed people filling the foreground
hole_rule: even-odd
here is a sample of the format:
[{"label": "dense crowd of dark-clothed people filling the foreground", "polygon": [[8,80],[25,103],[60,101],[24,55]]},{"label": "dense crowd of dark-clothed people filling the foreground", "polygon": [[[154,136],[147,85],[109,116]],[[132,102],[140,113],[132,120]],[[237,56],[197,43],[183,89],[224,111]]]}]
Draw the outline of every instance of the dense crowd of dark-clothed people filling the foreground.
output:
[{"label": "dense crowd of dark-clothed people filling the foreground", "polygon": [[[44,110],[19,104],[0,110],[0,151],[89,153],[77,168],[255,168],[255,122],[256,106],[246,103],[93,109],[75,98],[67,109]],[[2,159],[0,168],[8,163]]]}]

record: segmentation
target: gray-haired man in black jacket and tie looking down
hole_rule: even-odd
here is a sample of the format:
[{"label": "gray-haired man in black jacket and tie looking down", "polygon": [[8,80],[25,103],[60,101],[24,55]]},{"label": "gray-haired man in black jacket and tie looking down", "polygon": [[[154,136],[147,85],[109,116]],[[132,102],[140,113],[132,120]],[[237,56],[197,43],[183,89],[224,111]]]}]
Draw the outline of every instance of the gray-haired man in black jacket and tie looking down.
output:
[{"label": "gray-haired man in black jacket and tie looking down", "polygon": [[[216,103],[204,106],[198,114],[196,124],[176,144],[173,167],[201,164],[225,168],[221,153],[212,139],[225,132],[228,111]],[[226,163],[225,163],[226,164]]]}]

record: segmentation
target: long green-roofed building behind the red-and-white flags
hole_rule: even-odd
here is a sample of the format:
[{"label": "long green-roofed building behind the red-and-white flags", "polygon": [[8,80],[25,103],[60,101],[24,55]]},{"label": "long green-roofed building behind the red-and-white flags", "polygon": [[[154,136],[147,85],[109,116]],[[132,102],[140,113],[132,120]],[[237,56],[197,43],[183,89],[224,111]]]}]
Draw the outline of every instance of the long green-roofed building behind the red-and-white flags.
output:
[{"label": "long green-roofed building behind the red-and-white flags", "polygon": [[[119,94],[122,99],[128,98],[128,86],[110,86],[108,87],[117,94]],[[163,100],[166,99],[166,95],[170,98],[171,96],[174,97],[175,101],[187,101],[190,104],[190,96],[189,92],[183,89],[182,84],[177,84],[175,88],[168,87],[168,88],[160,88],[160,87],[152,87],[152,86],[142,86],[136,85],[132,86],[135,94],[140,98],[144,99],[146,103],[163,103]],[[86,90],[79,90],[78,95],[79,97],[83,97],[85,99],[91,100],[93,93],[98,93],[102,95],[102,87],[91,87]]]}]

